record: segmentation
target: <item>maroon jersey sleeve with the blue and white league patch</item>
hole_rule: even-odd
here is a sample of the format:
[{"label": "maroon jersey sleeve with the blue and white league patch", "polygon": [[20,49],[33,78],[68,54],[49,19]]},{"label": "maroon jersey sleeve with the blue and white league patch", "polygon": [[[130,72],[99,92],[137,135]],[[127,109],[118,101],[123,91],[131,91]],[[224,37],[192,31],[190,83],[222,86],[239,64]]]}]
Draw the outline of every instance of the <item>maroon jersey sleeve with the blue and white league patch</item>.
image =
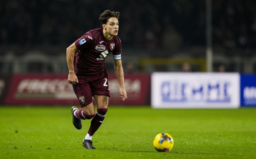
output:
[{"label": "maroon jersey sleeve with the blue and white league patch", "polygon": [[81,38],[75,41],[75,45],[78,50],[82,50],[90,46],[92,42],[93,42],[92,35],[87,32]]}]

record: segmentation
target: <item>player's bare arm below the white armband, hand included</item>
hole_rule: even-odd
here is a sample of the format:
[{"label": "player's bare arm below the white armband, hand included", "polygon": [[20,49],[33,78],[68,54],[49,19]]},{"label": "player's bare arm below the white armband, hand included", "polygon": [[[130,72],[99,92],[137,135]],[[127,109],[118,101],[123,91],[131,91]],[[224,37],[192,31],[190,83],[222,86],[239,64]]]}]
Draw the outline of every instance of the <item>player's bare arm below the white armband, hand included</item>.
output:
[{"label": "player's bare arm below the white armband, hand included", "polygon": [[121,60],[114,60],[114,66],[115,66],[116,78],[120,85],[120,89],[119,89],[121,94],[120,97],[124,101],[125,99],[127,99],[127,93],[124,87],[124,71],[123,71]]}]

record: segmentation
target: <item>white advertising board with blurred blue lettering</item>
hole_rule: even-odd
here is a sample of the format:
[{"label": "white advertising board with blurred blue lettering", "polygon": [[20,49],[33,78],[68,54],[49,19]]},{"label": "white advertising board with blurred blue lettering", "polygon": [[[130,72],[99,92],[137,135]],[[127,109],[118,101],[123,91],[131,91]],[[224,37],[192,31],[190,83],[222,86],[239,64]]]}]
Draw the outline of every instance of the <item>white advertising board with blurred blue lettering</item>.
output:
[{"label": "white advertising board with blurred blue lettering", "polygon": [[153,108],[238,108],[238,73],[164,73],[151,75]]}]

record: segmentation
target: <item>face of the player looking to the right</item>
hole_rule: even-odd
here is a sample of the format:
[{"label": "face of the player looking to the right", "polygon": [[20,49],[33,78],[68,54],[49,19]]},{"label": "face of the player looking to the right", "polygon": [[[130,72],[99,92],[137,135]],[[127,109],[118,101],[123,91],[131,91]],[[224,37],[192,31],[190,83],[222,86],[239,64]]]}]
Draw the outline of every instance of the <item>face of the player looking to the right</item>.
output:
[{"label": "face of the player looking to the right", "polygon": [[117,18],[109,18],[107,24],[103,25],[105,25],[106,31],[108,32],[108,34],[110,34],[110,36],[117,36],[119,28]]}]

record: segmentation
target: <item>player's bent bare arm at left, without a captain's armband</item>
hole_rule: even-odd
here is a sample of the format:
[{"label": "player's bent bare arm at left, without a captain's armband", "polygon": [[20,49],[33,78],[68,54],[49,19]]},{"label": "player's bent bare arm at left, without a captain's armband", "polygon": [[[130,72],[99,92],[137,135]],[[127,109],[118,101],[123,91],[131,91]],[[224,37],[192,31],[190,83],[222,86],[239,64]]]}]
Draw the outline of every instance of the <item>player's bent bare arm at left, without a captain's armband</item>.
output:
[{"label": "player's bent bare arm at left, without a captain's armband", "polygon": [[74,55],[77,51],[75,43],[70,45],[67,48],[67,63],[68,63],[68,83],[70,84],[76,84],[78,83],[77,76],[74,72]]}]

